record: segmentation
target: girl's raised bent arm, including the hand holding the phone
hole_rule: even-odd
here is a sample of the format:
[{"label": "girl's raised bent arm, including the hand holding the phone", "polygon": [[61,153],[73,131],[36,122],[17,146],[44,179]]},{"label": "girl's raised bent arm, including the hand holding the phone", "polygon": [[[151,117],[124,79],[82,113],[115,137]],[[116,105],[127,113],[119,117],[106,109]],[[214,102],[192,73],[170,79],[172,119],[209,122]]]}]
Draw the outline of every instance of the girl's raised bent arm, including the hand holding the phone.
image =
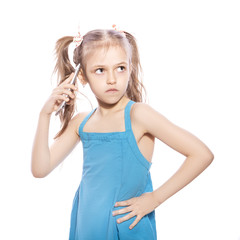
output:
[{"label": "girl's raised bent arm, including the hand holding the phone", "polygon": [[52,112],[58,109],[58,106],[63,100],[67,102],[71,101],[63,94],[67,94],[72,99],[75,97],[75,95],[68,90],[76,90],[74,85],[69,84],[73,75],[74,74],[71,74],[69,78],[53,90],[39,114],[38,126],[32,148],[31,171],[34,177],[42,178],[47,176],[66,158],[80,141],[77,126],[82,118],[82,114],[78,114],[71,119],[63,134],[54,141],[50,148],[48,145],[49,125]]}]

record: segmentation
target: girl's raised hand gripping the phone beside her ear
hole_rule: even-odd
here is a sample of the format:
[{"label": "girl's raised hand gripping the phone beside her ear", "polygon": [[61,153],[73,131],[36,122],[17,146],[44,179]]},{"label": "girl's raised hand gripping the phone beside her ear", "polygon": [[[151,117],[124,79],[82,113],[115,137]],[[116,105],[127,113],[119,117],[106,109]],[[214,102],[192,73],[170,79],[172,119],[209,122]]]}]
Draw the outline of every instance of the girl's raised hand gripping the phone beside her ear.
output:
[{"label": "girl's raised hand gripping the phone beside her ear", "polygon": [[[41,113],[51,115],[52,112],[58,110],[60,104],[63,101],[66,101],[66,103],[69,104],[75,98],[75,94],[70,91],[70,90],[73,90],[73,91],[77,90],[77,87],[75,87],[73,84],[70,84],[73,76],[74,76],[74,73],[72,73],[59,86],[53,89],[52,94],[50,95],[48,100],[45,102],[41,110]],[[65,96],[65,94],[68,96]]]}]

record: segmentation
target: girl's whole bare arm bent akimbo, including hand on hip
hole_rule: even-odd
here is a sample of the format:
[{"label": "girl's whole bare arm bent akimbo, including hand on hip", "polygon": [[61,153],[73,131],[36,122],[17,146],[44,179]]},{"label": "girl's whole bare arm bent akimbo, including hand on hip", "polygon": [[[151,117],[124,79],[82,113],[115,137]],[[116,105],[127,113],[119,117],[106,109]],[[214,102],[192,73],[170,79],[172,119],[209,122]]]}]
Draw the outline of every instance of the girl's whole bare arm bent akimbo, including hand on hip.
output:
[{"label": "girl's whole bare arm bent akimbo, including hand on hip", "polygon": [[152,212],[173,194],[196,178],[213,161],[213,153],[197,137],[176,126],[159,112],[145,103],[136,103],[131,111],[131,121],[141,126],[144,133],[158,138],[169,147],[182,153],[186,159],[178,171],[153,192],[139,197],[116,202],[115,206],[127,206],[113,211],[113,215],[130,212],[117,219],[118,223],[137,216],[129,226],[132,229],[143,216]]}]

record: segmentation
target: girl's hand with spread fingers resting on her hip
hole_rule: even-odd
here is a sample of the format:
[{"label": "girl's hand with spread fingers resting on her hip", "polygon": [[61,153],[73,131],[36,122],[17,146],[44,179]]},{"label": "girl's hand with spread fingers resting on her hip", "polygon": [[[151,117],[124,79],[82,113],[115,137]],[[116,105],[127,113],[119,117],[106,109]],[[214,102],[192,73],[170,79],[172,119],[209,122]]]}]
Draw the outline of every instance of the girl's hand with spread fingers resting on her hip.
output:
[{"label": "girl's hand with spread fingers resting on her hip", "polygon": [[118,214],[123,214],[130,212],[128,215],[119,218],[117,220],[117,223],[124,222],[134,216],[137,216],[135,221],[130,225],[130,229],[135,227],[137,223],[141,220],[142,217],[144,217],[146,214],[152,212],[155,208],[157,208],[160,204],[154,197],[153,192],[146,192],[143,193],[139,197],[130,198],[125,201],[116,202],[115,207],[119,206],[128,206],[126,208],[122,208],[120,210],[113,211],[113,216]]}]

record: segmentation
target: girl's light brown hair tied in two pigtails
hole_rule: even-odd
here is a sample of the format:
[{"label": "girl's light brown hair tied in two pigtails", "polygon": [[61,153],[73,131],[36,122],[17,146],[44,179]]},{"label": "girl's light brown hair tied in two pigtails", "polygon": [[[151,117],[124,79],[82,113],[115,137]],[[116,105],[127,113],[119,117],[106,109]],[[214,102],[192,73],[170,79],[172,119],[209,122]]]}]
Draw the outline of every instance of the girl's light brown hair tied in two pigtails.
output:
[{"label": "girl's light brown hair tied in two pigtails", "polygon": [[[74,67],[72,66],[68,56],[68,47],[72,42],[72,36],[62,37],[56,42],[56,65],[54,68],[54,72],[57,72],[58,85],[60,85],[70,76],[72,72],[74,72]],[[143,102],[142,91],[144,90],[146,95],[146,89],[142,84],[141,79],[142,67],[140,64],[136,39],[130,33],[125,31],[119,32],[116,30],[101,29],[88,32],[83,36],[82,43],[74,49],[73,62],[76,65],[78,65],[79,63],[81,64],[82,73],[85,76],[85,79],[87,79],[85,70],[88,54],[91,51],[95,50],[97,47],[108,48],[110,46],[120,46],[126,51],[126,53],[129,54],[132,71],[126,90],[126,95],[129,99],[135,102]],[[60,137],[67,128],[69,121],[74,115],[75,105],[76,100],[74,100],[74,104],[66,105],[64,110],[60,112],[59,116],[62,126],[61,130],[54,138]]]}]

